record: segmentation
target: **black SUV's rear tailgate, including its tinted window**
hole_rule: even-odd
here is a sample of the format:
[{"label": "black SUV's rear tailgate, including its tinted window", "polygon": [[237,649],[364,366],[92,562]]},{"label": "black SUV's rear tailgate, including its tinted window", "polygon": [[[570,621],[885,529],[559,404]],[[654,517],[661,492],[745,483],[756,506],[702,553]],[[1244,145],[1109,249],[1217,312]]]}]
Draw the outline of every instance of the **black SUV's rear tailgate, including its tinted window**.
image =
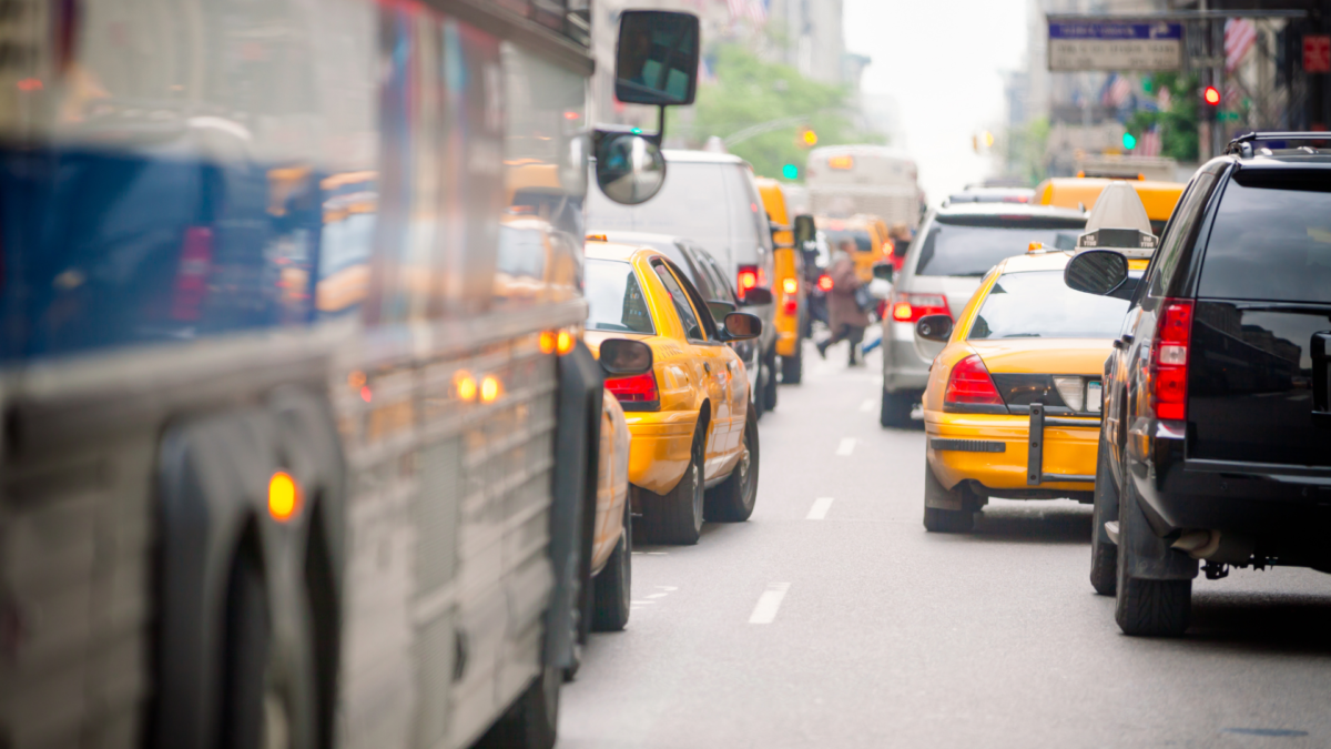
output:
[{"label": "black SUV's rear tailgate, including its tinted window", "polygon": [[1331,172],[1234,175],[1193,317],[1190,457],[1331,465]]}]

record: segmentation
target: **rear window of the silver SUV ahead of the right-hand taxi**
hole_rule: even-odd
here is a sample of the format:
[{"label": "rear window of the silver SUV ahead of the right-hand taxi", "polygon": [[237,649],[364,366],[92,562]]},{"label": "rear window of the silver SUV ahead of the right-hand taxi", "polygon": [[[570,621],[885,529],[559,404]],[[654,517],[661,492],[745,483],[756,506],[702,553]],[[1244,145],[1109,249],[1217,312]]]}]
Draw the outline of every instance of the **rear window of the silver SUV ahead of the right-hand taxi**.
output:
[{"label": "rear window of the silver SUV ahead of the right-hand taxi", "polygon": [[1005,221],[988,227],[936,221],[920,248],[916,275],[981,277],[1000,260],[1025,253],[1033,241],[1073,249],[1085,225],[1077,220]]}]

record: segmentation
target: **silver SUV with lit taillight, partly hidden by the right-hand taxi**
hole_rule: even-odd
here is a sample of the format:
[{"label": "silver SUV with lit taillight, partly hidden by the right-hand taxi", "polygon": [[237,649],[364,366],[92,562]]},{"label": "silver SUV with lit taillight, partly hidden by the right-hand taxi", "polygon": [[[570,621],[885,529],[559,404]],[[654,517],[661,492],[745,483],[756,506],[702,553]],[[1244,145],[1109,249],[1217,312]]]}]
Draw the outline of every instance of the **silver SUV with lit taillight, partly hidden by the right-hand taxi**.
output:
[{"label": "silver SUV with lit taillight, partly hidden by the right-hand taxi", "polygon": [[925,217],[882,320],[884,426],[908,426],[910,409],[929,382],[929,365],[944,344],[914,335],[925,315],[961,316],[980,281],[1000,260],[1030,243],[1073,249],[1086,227],[1081,211],[1012,203],[962,203]]}]

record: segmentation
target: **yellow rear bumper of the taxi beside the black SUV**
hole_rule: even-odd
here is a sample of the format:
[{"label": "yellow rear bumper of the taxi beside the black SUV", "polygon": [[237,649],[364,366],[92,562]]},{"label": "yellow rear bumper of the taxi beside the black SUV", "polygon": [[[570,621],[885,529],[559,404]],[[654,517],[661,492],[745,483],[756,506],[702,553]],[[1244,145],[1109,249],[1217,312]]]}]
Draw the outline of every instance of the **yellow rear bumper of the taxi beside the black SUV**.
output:
[{"label": "yellow rear bumper of the taxi beside the black SUV", "polygon": [[1081,497],[1095,488],[1098,418],[1051,417],[1044,409],[924,416],[929,465],[948,489],[974,481],[994,496],[1036,498]]}]

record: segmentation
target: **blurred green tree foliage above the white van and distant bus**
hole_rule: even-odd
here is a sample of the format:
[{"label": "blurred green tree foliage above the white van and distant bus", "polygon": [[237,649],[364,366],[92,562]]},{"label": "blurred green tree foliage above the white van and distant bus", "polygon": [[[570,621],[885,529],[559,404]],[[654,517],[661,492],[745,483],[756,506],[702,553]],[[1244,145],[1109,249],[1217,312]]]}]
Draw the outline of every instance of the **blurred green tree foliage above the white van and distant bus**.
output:
[{"label": "blurred green tree foliage above the white van and distant bus", "polygon": [[[725,139],[745,128],[785,117],[807,117],[819,145],[886,143],[881,133],[865,133],[851,121],[851,92],[845,87],[809,80],[789,65],[768,63],[748,49],[725,44],[716,49],[713,84],[700,84],[692,123],[681,125],[669,112],[667,132],[683,133],[691,148],[701,148],[712,136]],[[808,148],[796,141],[803,125],[791,124],[756,135],[729,151],[753,164],[753,171],[780,177],[784,164],[800,167]]]}]

